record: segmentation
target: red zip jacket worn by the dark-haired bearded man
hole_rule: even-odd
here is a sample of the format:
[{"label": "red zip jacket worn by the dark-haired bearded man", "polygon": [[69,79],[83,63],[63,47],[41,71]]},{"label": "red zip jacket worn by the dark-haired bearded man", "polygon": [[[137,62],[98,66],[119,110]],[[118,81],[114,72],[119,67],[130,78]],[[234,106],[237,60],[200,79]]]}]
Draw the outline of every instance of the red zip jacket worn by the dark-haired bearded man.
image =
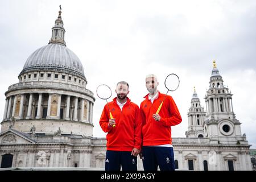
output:
[{"label": "red zip jacket worn by the dark-haired bearded man", "polygon": [[139,106],[130,101],[123,105],[122,111],[117,104],[117,97],[109,102],[109,108],[115,118],[115,127],[109,127],[109,109],[105,105],[100,118],[100,126],[106,135],[107,150],[132,151],[133,148],[141,148],[142,143],[142,118]]}]

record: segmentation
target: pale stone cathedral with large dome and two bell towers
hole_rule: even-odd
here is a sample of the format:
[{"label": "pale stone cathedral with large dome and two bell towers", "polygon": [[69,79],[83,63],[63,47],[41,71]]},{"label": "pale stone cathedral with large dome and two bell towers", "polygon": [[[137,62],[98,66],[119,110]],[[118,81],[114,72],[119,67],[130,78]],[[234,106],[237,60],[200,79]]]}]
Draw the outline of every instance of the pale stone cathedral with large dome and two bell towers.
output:
[{"label": "pale stone cathedral with large dome and two bell towers", "polygon": [[[61,11],[47,46],[32,53],[9,86],[0,133],[0,166],[104,169],[106,139],[94,138],[93,93],[81,61],[64,41]],[[250,145],[233,112],[232,94],[216,68],[205,96],[196,90],[187,138],[173,138],[180,170],[252,170]],[[143,169],[138,158],[138,168]]]}]

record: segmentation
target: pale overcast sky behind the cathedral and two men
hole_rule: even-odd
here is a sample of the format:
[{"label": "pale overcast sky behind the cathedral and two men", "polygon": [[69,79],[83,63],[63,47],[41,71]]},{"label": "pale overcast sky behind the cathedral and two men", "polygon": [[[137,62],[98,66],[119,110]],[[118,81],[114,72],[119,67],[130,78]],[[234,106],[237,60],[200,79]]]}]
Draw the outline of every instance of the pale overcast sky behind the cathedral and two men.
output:
[{"label": "pale overcast sky behind the cathedral and two men", "polygon": [[[212,60],[233,95],[233,107],[249,144],[256,148],[256,1],[0,1],[0,118],[5,92],[32,52],[48,44],[59,5],[67,47],[79,56],[94,92],[94,137],[105,137],[98,120],[105,101],[99,84],[112,90],[129,82],[129,97],[140,104],[144,77],[155,73],[166,92],[169,73],[180,77],[170,93],[183,122],[172,137],[185,137],[187,112],[196,86],[201,104],[209,88]],[[113,97],[115,94],[113,94]],[[112,98],[113,98],[112,97]]]}]

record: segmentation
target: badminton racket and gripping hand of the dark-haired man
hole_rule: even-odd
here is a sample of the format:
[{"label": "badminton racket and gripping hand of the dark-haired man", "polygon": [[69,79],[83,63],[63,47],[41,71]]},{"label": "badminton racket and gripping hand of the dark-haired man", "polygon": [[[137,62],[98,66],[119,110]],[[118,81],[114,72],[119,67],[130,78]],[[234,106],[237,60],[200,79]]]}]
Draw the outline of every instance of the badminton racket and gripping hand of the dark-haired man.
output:
[{"label": "badminton racket and gripping hand of the dark-haired man", "polygon": [[[105,84],[99,85],[97,87],[96,93],[99,98],[101,98],[102,100],[106,100],[107,106],[109,108],[108,99],[112,96],[112,91],[111,91],[110,87]],[[110,115],[109,126],[115,127],[115,119],[113,118],[113,115],[112,115],[110,109],[109,109],[109,115]]]}]

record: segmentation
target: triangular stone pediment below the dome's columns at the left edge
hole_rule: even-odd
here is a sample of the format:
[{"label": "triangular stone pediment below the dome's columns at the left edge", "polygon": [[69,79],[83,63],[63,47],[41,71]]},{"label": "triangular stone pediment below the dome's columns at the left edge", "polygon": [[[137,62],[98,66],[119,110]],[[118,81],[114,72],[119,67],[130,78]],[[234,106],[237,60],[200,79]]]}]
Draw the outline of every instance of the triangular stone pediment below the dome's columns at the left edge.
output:
[{"label": "triangular stone pediment below the dome's columns at the left edge", "polygon": [[28,138],[26,134],[9,129],[0,133],[0,144],[32,144],[34,140]]}]

